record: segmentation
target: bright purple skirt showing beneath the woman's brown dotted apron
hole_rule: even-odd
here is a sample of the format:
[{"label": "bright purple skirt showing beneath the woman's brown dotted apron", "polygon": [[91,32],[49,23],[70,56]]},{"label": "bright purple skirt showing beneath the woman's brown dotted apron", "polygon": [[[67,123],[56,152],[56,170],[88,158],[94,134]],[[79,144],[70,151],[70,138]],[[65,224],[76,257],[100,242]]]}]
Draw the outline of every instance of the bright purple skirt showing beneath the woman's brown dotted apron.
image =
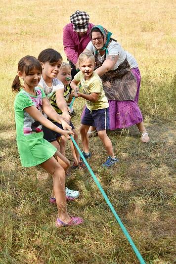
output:
[{"label": "bright purple skirt showing beneath the woman's brown dotted apron", "polygon": [[123,129],[143,121],[141,111],[138,106],[140,72],[138,67],[132,69],[137,80],[137,92],[134,101],[115,101],[109,102],[109,129]]}]

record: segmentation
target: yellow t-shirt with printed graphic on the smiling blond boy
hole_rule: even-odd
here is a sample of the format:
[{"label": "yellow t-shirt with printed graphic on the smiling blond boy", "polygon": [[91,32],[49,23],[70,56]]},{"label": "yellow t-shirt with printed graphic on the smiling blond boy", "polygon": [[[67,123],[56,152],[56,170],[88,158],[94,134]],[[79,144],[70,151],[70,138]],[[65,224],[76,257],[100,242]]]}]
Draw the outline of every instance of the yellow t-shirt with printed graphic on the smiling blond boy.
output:
[{"label": "yellow t-shirt with printed graphic on the smiling blond boy", "polygon": [[91,78],[85,81],[85,75],[80,71],[74,77],[77,82],[81,82],[80,92],[84,94],[91,94],[93,92],[99,93],[98,100],[96,102],[90,102],[87,100],[87,108],[89,110],[98,110],[108,108],[108,99],[105,96],[103,85],[99,76],[93,72]]}]

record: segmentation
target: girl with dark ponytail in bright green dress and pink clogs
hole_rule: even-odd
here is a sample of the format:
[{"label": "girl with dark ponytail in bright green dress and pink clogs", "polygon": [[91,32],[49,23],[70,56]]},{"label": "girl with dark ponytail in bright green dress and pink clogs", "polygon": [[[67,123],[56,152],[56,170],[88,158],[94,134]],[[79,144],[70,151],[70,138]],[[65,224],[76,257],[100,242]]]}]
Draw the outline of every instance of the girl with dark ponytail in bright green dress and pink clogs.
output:
[{"label": "girl with dark ponytail in bright green dress and pink clogs", "polygon": [[[42,125],[67,138],[74,133],[71,131],[72,128],[51,107],[43,89],[38,87],[41,73],[40,62],[33,56],[25,56],[18,63],[18,74],[12,84],[12,90],[17,92],[14,109],[21,164],[23,167],[40,165],[53,176],[53,189],[58,209],[56,226],[77,225],[83,220],[70,217],[67,213],[65,171],[54,157],[59,156],[57,149],[43,138]],[[19,77],[23,79],[23,85],[20,84]],[[63,130],[50,122],[44,113],[60,123]]]}]

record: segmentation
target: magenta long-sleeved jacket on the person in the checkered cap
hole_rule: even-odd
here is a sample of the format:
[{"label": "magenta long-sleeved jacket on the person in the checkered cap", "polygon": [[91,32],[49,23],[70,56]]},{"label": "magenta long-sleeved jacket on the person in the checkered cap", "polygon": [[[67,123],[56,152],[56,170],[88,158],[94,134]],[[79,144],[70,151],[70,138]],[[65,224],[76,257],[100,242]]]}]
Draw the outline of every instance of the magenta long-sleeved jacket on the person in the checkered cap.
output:
[{"label": "magenta long-sleeved jacket on the person in the checkered cap", "polygon": [[73,31],[72,23],[67,24],[63,29],[63,44],[64,51],[69,60],[75,64],[79,55],[84,51],[90,41],[90,30],[94,25],[89,23],[88,32],[85,36],[79,39],[78,34]]}]

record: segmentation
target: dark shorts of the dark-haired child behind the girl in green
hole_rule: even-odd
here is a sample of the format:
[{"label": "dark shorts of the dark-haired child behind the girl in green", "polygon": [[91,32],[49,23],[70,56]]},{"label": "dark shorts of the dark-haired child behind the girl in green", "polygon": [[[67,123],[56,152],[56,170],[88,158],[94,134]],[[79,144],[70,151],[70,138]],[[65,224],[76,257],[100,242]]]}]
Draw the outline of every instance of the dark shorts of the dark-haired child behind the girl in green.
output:
[{"label": "dark shorts of the dark-haired child behind the girl in green", "polygon": [[[54,125],[56,125],[59,129],[63,130],[63,127],[61,124],[57,123],[57,122],[53,122]],[[72,127],[72,130],[75,129],[75,127],[73,126],[72,122],[70,121],[69,124]],[[43,132],[44,132],[44,139],[46,139],[49,142],[53,142],[55,140],[57,140],[57,137],[61,136],[60,133],[54,132],[46,127],[43,126],[42,128]]]}]

